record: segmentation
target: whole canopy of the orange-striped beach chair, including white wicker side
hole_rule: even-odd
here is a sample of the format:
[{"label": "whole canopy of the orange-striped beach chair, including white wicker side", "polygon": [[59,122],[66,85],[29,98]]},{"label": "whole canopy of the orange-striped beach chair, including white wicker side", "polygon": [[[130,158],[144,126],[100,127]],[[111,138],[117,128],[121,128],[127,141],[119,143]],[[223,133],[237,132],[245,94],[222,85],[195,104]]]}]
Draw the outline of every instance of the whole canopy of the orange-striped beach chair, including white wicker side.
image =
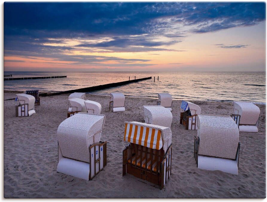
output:
[{"label": "whole canopy of the orange-striped beach chair, including white wicker side", "polygon": [[166,152],[172,143],[169,127],[125,121],[124,141]]}]

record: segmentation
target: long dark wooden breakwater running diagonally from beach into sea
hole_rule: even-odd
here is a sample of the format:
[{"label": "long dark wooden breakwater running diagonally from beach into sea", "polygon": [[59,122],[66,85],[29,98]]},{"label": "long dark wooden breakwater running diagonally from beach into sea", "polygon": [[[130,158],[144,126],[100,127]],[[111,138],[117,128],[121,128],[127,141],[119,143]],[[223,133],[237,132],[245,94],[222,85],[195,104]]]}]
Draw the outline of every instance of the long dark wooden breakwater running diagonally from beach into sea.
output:
[{"label": "long dark wooden breakwater running diagonally from beach into sea", "polygon": [[122,85],[129,84],[129,83],[135,83],[138,81],[144,81],[144,80],[148,80],[151,78],[152,77],[146,77],[146,78],[134,79],[134,80],[129,80],[129,81],[121,81],[121,82],[117,82],[117,83],[108,83],[108,84],[99,85],[99,86],[91,86],[91,87],[87,87],[87,88],[80,88],[80,89],[67,90],[67,91],[61,91],[61,92],[40,93],[39,95],[45,97],[45,96],[60,95],[60,94],[64,94],[64,93],[73,93],[73,92],[91,92],[91,91],[95,91],[95,90],[102,90],[102,89],[106,89],[106,88],[122,86]]}]

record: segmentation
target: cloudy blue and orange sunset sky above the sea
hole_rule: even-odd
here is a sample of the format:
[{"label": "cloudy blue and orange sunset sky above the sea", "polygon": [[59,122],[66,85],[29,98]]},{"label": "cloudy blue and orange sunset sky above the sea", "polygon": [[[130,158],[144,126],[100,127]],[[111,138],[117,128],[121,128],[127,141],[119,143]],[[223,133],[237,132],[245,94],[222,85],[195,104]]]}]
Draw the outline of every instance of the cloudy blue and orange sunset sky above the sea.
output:
[{"label": "cloudy blue and orange sunset sky above the sea", "polygon": [[4,71],[265,71],[264,2],[4,3]]}]

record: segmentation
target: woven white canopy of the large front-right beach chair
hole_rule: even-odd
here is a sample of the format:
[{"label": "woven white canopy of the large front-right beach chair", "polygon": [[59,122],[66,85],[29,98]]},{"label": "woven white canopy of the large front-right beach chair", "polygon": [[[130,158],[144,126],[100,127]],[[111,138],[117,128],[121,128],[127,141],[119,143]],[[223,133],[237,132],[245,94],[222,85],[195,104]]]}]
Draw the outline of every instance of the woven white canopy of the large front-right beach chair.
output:
[{"label": "woven white canopy of the large front-right beach chair", "polygon": [[198,115],[199,155],[235,159],[237,124],[230,116]]}]

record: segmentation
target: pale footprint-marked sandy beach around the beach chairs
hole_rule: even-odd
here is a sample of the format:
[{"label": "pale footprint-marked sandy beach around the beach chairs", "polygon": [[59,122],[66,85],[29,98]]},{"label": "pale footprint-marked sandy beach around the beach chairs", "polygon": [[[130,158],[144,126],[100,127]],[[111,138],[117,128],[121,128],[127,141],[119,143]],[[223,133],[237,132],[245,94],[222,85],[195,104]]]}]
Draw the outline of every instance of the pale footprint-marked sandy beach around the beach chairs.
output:
[{"label": "pale footprint-marked sandy beach around the beach chairs", "polygon": [[[143,105],[156,99],[126,97],[126,111],[109,111],[109,97],[87,94],[102,106],[106,121],[101,140],[107,141],[107,165],[91,181],[57,173],[57,128],[67,118],[68,96],[40,97],[36,114],[16,117],[16,93],[4,93],[5,198],[265,198],[266,106],[260,108],[258,133],[239,133],[239,174],[196,167],[196,130],[179,123],[181,100],[173,101],[172,174],[162,190],[132,175],[122,176],[124,121],[144,122]],[[230,115],[230,102],[193,101],[203,114]]]}]

